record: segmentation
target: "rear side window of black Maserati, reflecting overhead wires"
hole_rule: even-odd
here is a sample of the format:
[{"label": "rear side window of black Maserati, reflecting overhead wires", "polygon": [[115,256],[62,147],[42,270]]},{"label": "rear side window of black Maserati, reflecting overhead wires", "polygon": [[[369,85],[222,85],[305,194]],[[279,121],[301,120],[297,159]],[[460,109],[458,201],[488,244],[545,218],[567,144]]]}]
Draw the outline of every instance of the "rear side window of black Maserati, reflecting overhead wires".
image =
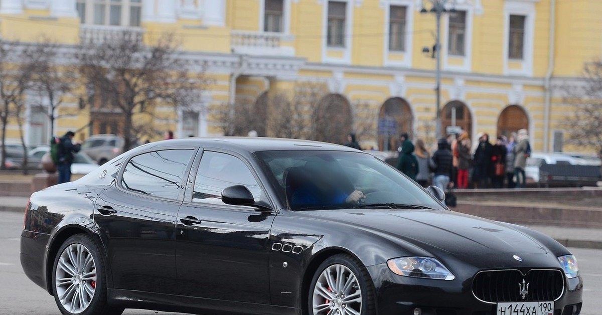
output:
[{"label": "rear side window of black Maserati, reflecting overhead wires", "polygon": [[144,195],[178,199],[184,189],[185,170],[192,157],[192,149],[154,151],[129,160],[123,171],[122,187]]}]

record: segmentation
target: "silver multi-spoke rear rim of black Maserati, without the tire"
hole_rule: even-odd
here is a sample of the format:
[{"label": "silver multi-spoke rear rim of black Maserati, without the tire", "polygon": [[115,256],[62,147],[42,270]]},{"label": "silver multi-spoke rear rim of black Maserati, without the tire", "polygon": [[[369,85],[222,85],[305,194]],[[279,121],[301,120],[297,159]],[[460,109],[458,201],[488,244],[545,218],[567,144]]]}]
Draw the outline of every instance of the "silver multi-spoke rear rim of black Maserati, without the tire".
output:
[{"label": "silver multi-spoke rear rim of black Maserati, without the tire", "polygon": [[85,311],[96,291],[96,263],[84,245],[74,243],[61,252],[55,273],[58,301],[72,314]]}]

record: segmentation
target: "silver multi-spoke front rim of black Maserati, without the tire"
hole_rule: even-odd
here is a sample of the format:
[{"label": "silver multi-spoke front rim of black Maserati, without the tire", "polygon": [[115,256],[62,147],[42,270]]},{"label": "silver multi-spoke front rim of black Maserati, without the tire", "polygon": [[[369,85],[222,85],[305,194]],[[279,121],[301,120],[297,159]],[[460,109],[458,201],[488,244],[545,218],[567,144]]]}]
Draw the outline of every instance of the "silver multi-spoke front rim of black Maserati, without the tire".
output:
[{"label": "silver multi-spoke front rim of black Maserati, without the tire", "polygon": [[362,292],[358,278],[343,264],[333,264],[320,274],[312,298],[314,315],[359,315]]}]

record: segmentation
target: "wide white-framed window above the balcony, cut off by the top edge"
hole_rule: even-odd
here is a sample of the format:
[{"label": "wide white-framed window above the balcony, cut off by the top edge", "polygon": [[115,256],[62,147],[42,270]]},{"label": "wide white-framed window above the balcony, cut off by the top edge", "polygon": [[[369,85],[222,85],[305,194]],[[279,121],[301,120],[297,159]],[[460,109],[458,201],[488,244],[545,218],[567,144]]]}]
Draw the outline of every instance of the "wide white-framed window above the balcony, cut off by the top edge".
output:
[{"label": "wide white-framed window above the balcony, cut off by the top edge", "polygon": [[139,27],[142,0],[77,0],[83,24]]}]

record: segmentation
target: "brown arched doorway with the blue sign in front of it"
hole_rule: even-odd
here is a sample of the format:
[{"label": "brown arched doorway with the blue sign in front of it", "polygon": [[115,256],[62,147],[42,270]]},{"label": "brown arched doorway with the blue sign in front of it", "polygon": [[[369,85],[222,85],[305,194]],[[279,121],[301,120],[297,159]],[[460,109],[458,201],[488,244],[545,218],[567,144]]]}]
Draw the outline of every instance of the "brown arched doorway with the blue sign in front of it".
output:
[{"label": "brown arched doorway with the blue sign in front of it", "polygon": [[402,98],[389,98],[380,107],[378,133],[379,149],[394,151],[399,147],[399,135],[408,133],[412,137],[412,110]]}]

